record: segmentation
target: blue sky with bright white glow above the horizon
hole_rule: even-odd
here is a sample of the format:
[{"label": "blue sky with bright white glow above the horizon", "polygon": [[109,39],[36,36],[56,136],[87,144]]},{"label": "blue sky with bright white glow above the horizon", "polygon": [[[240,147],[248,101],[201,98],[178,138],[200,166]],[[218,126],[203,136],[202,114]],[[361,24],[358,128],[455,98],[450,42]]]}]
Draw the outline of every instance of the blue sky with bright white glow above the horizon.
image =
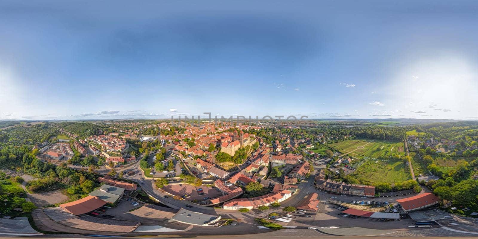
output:
[{"label": "blue sky with bright white glow above the horizon", "polygon": [[473,1],[0,1],[1,119],[478,119]]}]

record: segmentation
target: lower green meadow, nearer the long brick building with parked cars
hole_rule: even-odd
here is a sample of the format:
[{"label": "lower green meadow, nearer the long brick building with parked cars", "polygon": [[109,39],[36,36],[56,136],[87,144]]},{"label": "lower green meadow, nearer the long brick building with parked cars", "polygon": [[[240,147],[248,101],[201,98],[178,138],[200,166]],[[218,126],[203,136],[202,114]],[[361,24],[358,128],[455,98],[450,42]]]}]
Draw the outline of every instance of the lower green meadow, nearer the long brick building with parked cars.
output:
[{"label": "lower green meadow, nearer the long brick building with parked cars", "polygon": [[369,182],[396,183],[412,179],[402,160],[368,160],[350,175]]}]

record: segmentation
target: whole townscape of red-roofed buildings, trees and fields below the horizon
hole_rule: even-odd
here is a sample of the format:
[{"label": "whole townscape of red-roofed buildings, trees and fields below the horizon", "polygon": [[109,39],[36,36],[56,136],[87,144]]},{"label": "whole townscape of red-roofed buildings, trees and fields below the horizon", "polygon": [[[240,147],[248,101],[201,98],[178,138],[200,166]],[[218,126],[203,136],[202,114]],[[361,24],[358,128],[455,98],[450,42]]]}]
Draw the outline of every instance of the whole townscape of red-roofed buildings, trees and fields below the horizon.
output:
[{"label": "whole townscape of red-roofed buildings, trees and fields below the horizon", "polygon": [[1,121],[0,216],[23,236],[466,235],[478,122],[413,121]]}]

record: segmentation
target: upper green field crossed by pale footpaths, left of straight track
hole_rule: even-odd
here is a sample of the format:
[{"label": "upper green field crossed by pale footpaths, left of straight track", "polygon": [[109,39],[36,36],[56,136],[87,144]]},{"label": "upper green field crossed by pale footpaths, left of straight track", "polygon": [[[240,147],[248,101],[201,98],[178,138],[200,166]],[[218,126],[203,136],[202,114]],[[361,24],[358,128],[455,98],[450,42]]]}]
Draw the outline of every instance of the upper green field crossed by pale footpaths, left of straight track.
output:
[{"label": "upper green field crossed by pale footpaths, left of straight track", "polygon": [[[342,153],[351,156],[388,159],[392,155],[405,156],[403,142],[355,139],[331,144]],[[363,147],[363,148],[361,148]]]}]

